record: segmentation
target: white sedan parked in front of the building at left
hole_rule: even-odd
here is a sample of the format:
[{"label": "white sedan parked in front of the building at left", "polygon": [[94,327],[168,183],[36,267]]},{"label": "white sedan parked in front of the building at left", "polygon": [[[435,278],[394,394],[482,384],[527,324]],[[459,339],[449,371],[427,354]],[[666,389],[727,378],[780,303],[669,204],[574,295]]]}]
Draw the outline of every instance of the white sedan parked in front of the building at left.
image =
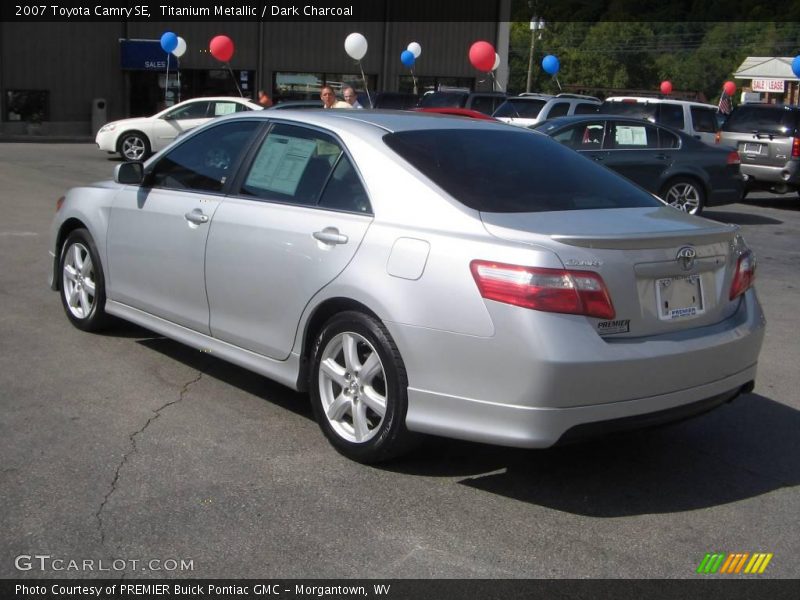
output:
[{"label": "white sedan parked in front of the building at left", "polygon": [[222,115],[261,110],[247,98],[218,96],[192,98],[170,106],[151,117],[134,117],[106,123],[97,132],[100,150],[119,154],[126,160],[144,160],[166,147],[181,133]]}]

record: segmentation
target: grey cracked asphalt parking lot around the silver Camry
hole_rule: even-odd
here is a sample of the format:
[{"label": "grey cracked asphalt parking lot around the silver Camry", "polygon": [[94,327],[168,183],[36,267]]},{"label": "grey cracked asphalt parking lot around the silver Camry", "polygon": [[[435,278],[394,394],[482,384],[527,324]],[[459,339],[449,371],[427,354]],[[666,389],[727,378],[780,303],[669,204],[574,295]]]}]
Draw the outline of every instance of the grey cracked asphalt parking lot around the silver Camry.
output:
[{"label": "grey cracked asphalt parking lot around the silver Camry", "polygon": [[46,281],[55,202],[116,164],[0,144],[0,577],[108,576],[103,560],[115,577],[692,578],[707,552],[800,577],[797,195],[707,212],[759,260],[752,394],[655,431],[430,440],[376,468],[333,451],[304,395],[132,325],[68,323]]}]

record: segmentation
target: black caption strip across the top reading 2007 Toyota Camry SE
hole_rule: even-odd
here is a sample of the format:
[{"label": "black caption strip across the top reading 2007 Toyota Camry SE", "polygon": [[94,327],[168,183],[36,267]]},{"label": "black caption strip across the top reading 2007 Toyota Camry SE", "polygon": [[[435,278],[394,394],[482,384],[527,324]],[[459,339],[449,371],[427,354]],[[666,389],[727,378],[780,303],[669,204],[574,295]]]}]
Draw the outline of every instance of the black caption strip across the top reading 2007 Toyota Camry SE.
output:
[{"label": "black caption strip across the top reading 2007 Toyota Camry SE", "polygon": [[120,21],[780,21],[800,23],[797,0],[11,0],[5,22]]}]

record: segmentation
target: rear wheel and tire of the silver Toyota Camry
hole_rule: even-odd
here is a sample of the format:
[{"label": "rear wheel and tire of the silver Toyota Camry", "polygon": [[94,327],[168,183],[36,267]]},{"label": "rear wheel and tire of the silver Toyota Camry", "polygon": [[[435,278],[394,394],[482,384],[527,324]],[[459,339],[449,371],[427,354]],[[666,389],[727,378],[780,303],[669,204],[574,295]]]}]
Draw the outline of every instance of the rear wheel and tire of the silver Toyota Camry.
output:
[{"label": "rear wheel and tire of the silver Toyota Camry", "polygon": [[[346,348],[352,349],[350,359]],[[335,376],[332,368],[337,369]],[[312,350],[310,388],[317,423],[344,456],[377,463],[415,445],[417,436],[405,423],[408,378],[403,359],[389,332],[373,317],[348,311],[325,324]]]}]

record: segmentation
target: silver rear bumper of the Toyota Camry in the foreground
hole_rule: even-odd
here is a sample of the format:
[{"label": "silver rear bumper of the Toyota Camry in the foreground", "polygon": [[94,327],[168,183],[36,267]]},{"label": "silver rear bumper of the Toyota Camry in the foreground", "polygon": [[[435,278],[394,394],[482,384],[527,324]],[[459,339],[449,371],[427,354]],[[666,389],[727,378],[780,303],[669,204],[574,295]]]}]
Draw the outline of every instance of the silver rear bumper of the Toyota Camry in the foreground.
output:
[{"label": "silver rear bumper of the Toyota Camry in the foreground", "polygon": [[650,338],[604,339],[581,317],[489,308],[490,338],[387,324],[408,372],[410,430],[547,447],[581,425],[722,402],[755,379],[765,327],[754,290],[721,323]]}]

